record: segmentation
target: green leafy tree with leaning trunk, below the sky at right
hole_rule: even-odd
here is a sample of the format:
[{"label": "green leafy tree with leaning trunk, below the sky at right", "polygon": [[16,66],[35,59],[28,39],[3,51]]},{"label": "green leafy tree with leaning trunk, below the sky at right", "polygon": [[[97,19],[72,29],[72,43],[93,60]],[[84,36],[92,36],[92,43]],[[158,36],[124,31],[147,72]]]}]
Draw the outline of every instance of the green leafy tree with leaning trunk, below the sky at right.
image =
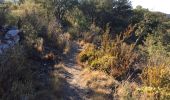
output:
[{"label": "green leafy tree with leaning trunk, below the sky at right", "polygon": [[141,44],[145,41],[145,37],[149,34],[167,33],[166,15],[159,12],[150,12],[148,9],[137,7],[134,9],[132,18],[132,25],[134,25],[134,32],[136,35],[135,44]]}]

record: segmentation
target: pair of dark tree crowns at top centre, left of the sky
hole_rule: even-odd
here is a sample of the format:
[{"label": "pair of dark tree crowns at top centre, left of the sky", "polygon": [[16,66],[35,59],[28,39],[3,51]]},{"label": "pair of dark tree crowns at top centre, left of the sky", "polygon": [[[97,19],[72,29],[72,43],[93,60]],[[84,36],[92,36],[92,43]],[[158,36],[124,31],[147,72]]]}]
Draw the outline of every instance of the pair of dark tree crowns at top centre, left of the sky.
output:
[{"label": "pair of dark tree crowns at top centre, left of the sky", "polygon": [[125,28],[132,14],[128,0],[82,0],[80,9],[91,23],[102,28],[108,23],[115,28]]}]

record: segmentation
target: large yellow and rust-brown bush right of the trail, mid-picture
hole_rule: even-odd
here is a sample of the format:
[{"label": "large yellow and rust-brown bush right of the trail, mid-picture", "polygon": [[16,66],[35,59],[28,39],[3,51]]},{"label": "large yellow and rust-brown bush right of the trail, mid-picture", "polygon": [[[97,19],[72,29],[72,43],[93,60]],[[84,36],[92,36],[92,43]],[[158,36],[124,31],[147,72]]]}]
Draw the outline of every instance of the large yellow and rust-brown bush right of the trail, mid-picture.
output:
[{"label": "large yellow and rust-brown bush right of the trail, mid-picture", "polygon": [[138,59],[134,45],[124,42],[127,37],[123,34],[111,40],[108,33],[105,33],[101,47],[90,45],[79,54],[80,61],[87,61],[90,69],[101,70],[114,77],[124,75]]}]

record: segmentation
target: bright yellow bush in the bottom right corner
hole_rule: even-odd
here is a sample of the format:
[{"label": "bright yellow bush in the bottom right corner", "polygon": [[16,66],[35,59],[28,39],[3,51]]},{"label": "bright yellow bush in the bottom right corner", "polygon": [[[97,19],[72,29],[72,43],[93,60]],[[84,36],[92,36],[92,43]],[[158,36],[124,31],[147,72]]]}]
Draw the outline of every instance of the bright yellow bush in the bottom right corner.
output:
[{"label": "bright yellow bush in the bottom right corner", "polygon": [[147,66],[144,68],[141,78],[144,86],[140,91],[149,97],[170,98],[170,67],[168,65]]}]

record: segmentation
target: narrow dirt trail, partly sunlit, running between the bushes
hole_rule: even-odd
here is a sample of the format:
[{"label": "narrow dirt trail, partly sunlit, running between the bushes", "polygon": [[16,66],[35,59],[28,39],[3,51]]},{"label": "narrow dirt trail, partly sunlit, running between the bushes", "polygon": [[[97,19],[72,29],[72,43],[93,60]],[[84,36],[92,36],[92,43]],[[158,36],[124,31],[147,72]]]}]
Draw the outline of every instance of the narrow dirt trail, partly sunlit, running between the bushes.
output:
[{"label": "narrow dirt trail, partly sunlit, running between the bushes", "polygon": [[64,58],[64,61],[55,67],[58,73],[66,79],[63,87],[64,100],[87,100],[88,89],[85,89],[79,82],[81,66],[76,62],[76,56],[81,51],[77,42],[72,43],[72,49]]}]

